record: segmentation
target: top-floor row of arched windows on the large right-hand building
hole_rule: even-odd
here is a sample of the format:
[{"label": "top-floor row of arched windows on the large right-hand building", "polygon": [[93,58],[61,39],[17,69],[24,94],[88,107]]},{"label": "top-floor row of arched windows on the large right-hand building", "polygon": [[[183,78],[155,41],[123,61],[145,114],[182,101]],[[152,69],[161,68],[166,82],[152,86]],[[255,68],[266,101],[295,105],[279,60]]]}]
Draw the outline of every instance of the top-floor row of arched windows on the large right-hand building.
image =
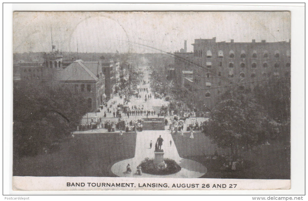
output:
[{"label": "top-floor row of arched windows on the large right-hand building", "polygon": [[[219,58],[223,58],[223,57],[224,57],[224,53],[223,53],[222,50],[219,50],[217,54],[218,54],[218,57],[219,57]],[[233,51],[233,50],[230,50],[230,52],[229,52],[229,58],[234,58],[234,55],[235,55],[234,51]],[[202,50],[195,50],[195,51],[194,51],[194,56],[202,57]],[[244,50],[241,51],[241,55],[240,55],[240,56],[241,56],[241,58],[246,58],[246,53],[245,53]],[[290,57],[290,56],[291,56],[289,50],[286,51],[286,56],[287,56],[287,57]],[[206,51],[206,57],[207,57],[207,58],[211,58],[211,57],[212,57],[212,52],[211,52],[211,50],[207,50],[207,51]],[[253,51],[251,57],[252,57],[252,58],[257,58],[257,51],[256,51],[256,50]],[[263,53],[262,57],[263,57],[263,58],[268,58],[268,57],[269,57],[269,54],[267,53],[267,51],[265,51],[265,52]],[[279,57],[280,57],[279,51],[275,51],[274,57],[275,57],[275,58],[279,58]]]}]

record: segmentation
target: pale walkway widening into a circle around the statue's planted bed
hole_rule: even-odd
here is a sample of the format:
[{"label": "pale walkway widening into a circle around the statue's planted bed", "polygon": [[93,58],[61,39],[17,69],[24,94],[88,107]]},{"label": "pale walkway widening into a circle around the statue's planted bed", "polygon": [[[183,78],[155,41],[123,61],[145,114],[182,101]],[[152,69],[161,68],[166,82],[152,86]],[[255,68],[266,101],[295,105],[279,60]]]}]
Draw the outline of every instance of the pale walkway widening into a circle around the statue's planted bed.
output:
[{"label": "pale walkway widening into a circle around the statue's planted bed", "polygon": [[[154,158],[154,145],[159,135],[164,139],[162,146],[165,153],[164,158],[175,160],[182,169],[171,175],[150,175],[145,173],[136,175],[137,166],[144,158]],[[150,149],[151,140],[153,144],[152,149]],[[171,146],[170,140],[172,141]],[[132,173],[130,174],[125,173],[128,163],[132,169]],[[111,171],[119,177],[198,178],[206,173],[206,167],[196,161],[181,158],[176,150],[172,136],[168,131],[142,131],[137,133],[135,157],[113,164]]]}]

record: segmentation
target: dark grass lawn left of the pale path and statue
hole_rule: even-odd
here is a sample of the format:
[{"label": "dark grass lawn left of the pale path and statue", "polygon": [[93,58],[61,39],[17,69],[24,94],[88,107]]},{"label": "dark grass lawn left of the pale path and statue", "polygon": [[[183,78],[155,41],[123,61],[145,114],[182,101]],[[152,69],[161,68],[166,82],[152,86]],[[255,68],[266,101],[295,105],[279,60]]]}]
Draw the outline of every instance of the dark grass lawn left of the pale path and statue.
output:
[{"label": "dark grass lawn left of the pale path and statue", "polygon": [[75,134],[55,151],[15,159],[14,176],[115,177],[111,166],[135,156],[136,134]]}]

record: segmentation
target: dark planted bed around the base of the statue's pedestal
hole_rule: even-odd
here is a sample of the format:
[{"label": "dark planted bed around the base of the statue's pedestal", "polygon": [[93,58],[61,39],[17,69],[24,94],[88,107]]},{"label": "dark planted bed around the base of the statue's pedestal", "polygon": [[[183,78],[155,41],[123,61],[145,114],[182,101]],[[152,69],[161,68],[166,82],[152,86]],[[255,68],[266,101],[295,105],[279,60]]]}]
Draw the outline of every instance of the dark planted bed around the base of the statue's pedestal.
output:
[{"label": "dark planted bed around the base of the statue's pedestal", "polygon": [[154,159],[145,158],[140,163],[141,170],[150,175],[171,175],[181,170],[181,167],[172,159],[164,159],[165,168],[156,168],[154,166]]}]

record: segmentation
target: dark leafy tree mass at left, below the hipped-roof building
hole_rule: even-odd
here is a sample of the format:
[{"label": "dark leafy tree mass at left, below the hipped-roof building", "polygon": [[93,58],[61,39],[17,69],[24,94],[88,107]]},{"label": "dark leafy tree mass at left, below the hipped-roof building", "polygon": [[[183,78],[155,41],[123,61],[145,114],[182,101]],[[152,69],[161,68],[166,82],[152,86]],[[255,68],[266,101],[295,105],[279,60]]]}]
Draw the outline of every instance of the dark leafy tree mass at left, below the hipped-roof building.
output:
[{"label": "dark leafy tree mass at left, below the hipped-roof building", "polygon": [[13,91],[14,156],[36,155],[70,135],[86,114],[85,100],[65,88],[25,83]]}]

